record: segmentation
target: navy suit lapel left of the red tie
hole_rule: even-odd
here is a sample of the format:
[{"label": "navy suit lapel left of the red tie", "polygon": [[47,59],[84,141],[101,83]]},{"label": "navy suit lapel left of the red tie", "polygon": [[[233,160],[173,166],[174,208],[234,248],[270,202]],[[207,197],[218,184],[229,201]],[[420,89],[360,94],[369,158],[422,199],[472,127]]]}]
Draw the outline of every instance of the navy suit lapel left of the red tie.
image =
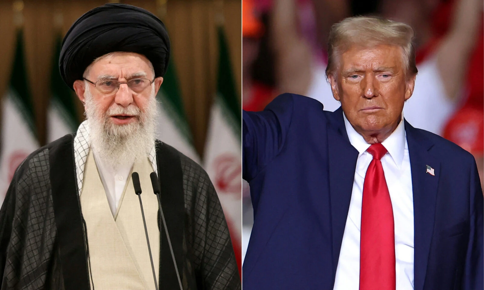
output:
[{"label": "navy suit lapel left of the red tie", "polygon": [[349,143],[341,107],[334,113],[330,113],[329,119],[328,153],[334,283],[343,233],[345,232],[346,219],[348,217],[358,150]]}]

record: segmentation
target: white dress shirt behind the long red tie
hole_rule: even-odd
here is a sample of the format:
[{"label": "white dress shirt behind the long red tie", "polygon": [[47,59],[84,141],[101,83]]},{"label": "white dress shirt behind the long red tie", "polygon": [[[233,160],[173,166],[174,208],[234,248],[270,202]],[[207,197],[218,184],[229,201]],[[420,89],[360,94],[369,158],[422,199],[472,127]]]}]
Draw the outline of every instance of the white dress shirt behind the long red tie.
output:
[{"label": "white dress shirt behind the long red tie", "polygon": [[[344,116],[344,114],[343,114]],[[351,201],[349,203],[343,242],[336,268],[334,290],[358,290],[360,287],[360,230],[363,182],[373,156],[366,152],[370,146],[357,133],[346,116],[349,142],[358,152]],[[402,118],[403,119],[403,118]],[[382,142],[388,152],[381,158],[385,180],[393,207],[395,225],[396,290],[413,289],[413,191],[408,156],[407,137],[403,120]],[[378,289],[375,285],[375,289]]]}]

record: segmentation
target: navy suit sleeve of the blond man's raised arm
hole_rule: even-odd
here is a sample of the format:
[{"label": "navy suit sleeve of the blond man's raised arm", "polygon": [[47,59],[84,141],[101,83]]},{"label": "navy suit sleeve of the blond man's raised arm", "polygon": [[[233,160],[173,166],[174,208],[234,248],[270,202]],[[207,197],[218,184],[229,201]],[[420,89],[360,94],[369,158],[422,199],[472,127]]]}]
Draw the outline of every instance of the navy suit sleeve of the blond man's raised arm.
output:
[{"label": "navy suit sleeve of the blond man's raised arm", "polygon": [[275,98],[262,112],[242,112],[242,178],[251,181],[281,151],[293,111],[292,94]]}]

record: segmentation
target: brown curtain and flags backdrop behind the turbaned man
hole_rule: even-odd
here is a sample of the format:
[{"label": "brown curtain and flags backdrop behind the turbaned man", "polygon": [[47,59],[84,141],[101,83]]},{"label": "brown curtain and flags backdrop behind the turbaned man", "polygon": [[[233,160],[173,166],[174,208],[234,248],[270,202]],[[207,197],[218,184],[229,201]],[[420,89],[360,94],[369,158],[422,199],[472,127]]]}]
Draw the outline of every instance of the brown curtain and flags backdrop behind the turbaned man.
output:
[{"label": "brown curtain and flags backdrop behind the turbaned man", "polygon": [[[28,154],[75,132],[84,108],[61,80],[61,41],[107,0],[0,0],[0,203]],[[171,59],[157,137],[209,173],[241,258],[241,0],[121,0],[166,25]]]}]

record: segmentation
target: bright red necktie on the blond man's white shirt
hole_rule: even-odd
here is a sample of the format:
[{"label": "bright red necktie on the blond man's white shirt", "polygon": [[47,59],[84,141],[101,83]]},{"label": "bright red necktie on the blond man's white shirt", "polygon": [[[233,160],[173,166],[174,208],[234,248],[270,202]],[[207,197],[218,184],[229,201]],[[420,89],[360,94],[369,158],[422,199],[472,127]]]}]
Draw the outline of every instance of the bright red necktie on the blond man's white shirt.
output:
[{"label": "bright red necktie on the blond man's white shirt", "polygon": [[366,149],[373,155],[363,184],[360,241],[360,290],[395,290],[393,209],[380,159],[380,143]]}]

